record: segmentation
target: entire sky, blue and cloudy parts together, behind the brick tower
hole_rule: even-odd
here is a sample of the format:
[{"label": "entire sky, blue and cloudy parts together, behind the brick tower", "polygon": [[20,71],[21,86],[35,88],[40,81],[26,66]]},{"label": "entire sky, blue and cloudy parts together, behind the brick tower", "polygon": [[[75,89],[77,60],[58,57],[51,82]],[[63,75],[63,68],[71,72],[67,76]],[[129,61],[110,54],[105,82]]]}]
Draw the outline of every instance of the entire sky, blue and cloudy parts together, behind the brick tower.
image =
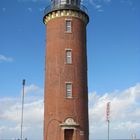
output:
[{"label": "entire sky, blue and cloudy parts together, behind the brick tower", "polygon": [[[87,25],[90,140],[140,139],[140,0],[84,0]],[[43,140],[45,25],[49,0],[0,0],[0,139]]]}]

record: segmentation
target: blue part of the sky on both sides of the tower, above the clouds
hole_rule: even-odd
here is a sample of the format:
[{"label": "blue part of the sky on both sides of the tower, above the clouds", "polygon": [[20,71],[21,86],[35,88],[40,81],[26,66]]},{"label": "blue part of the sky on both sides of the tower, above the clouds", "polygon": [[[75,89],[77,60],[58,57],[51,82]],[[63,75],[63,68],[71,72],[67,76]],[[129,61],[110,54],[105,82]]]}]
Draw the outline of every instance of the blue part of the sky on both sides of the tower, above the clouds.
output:
[{"label": "blue part of the sky on both sides of the tower, above the clouds", "polygon": [[[93,1],[94,2],[94,1]],[[87,27],[89,92],[124,89],[140,81],[139,0],[85,1],[90,22]],[[0,2],[0,60],[3,94],[19,90],[21,80],[43,87],[47,1],[3,0]],[[7,89],[7,86],[9,87]]]}]

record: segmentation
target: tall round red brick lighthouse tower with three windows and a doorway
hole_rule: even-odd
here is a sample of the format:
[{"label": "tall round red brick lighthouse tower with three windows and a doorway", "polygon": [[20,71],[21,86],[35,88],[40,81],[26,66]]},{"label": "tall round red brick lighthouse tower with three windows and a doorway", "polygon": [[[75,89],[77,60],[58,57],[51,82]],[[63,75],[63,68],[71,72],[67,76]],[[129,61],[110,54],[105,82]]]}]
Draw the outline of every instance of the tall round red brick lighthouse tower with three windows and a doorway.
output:
[{"label": "tall round red brick lighthouse tower with three windows and a doorway", "polygon": [[88,140],[86,8],[52,0],[45,10],[44,140]]}]

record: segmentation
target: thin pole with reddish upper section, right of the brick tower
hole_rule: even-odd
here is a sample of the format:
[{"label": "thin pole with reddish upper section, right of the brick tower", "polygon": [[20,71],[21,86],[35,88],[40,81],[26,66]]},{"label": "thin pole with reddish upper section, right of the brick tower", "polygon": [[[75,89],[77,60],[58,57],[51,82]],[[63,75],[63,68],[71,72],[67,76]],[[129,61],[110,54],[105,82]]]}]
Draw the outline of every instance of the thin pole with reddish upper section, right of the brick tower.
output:
[{"label": "thin pole with reddish upper section, right of the brick tower", "polygon": [[106,121],[108,123],[108,140],[109,140],[109,130],[110,130],[110,102],[106,104]]}]

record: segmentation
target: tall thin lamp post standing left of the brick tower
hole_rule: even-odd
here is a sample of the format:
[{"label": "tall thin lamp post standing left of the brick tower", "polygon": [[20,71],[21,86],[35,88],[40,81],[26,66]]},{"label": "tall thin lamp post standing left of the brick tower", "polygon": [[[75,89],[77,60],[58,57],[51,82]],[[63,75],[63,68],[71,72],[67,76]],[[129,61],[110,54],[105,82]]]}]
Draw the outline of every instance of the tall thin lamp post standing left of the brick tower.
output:
[{"label": "tall thin lamp post standing left of the brick tower", "polygon": [[25,88],[25,79],[22,81],[22,108],[21,108],[21,134],[20,134],[20,140],[22,140],[23,137],[23,111],[24,111],[24,88]]}]

